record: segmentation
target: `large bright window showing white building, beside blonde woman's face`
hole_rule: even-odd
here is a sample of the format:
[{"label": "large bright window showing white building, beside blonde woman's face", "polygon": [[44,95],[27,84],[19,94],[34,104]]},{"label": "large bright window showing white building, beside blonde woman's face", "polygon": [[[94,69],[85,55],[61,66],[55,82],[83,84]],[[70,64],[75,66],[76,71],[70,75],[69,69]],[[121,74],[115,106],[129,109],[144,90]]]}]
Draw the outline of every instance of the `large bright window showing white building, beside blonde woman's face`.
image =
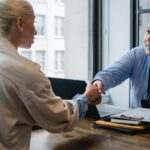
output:
[{"label": "large bright window showing white building, beside blonde woman's face", "polygon": [[46,76],[88,80],[88,1],[30,2],[38,34],[31,47],[31,60],[41,65]]}]

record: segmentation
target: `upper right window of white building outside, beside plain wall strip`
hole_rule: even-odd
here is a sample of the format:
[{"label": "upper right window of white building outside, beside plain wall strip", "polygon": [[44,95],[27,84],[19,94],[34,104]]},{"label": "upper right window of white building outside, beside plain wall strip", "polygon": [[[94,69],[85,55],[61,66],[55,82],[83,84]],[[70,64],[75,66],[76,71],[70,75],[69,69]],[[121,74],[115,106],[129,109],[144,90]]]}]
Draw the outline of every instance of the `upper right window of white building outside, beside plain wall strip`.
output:
[{"label": "upper right window of white building outside, beside plain wall strip", "polygon": [[55,17],[55,30],[56,37],[64,36],[64,17]]}]

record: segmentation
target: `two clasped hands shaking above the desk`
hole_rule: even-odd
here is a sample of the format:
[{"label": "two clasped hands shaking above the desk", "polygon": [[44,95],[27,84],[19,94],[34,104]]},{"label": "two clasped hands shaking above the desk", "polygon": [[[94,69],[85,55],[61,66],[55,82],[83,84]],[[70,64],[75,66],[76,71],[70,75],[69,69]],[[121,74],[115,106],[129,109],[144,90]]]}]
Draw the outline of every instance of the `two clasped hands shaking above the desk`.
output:
[{"label": "two clasped hands shaking above the desk", "polygon": [[105,94],[104,85],[100,80],[96,80],[93,84],[87,85],[86,91],[83,93],[91,105],[99,104],[102,99],[102,94]]}]

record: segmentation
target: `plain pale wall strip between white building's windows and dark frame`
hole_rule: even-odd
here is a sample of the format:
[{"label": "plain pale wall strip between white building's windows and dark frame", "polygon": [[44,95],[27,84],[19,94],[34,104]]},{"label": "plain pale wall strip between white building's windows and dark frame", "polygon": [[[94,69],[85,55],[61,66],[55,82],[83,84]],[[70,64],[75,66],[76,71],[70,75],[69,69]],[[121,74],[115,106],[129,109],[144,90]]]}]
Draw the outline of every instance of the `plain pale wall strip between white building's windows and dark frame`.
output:
[{"label": "plain pale wall strip between white building's windows and dark frame", "polygon": [[88,79],[88,0],[65,0],[65,78]]}]

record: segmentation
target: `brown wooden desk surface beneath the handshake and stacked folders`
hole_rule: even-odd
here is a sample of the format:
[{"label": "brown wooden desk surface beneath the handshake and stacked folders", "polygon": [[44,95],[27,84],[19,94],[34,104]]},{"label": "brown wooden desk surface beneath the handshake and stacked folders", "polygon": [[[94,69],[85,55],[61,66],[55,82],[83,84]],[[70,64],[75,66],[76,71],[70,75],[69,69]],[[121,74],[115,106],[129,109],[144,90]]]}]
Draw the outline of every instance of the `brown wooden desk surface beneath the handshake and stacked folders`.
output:
[{"label": "brown wooden desk surface beneath the handshake and stacked folders", "polygon": [[83,120],[69,133],[34,131],[30,150],[150,150],[150,133],[128,135],[96,129],[90,127],[92,122]]}]

